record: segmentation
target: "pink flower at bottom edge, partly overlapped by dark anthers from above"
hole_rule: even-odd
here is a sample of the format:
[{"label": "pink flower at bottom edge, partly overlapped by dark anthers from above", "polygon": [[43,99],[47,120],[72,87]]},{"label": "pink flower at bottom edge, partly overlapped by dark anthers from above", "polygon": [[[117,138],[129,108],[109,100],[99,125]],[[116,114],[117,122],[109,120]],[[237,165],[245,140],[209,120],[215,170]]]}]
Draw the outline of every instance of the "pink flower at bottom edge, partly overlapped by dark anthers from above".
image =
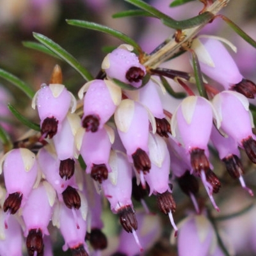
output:
[{"label": "pink flower at bottom edge, partly overlapped by dark anthers from above", "polygon": [[54,209],[52,223],[60,228],[64,238],[63,251],[67,251],[70,248],[74,256],[88,256],[88,248],[84,242],[86,216],[82,212],[77,211],[77,218],[75,219],[72,210],[68,209],[64,204],[57,204]]}]

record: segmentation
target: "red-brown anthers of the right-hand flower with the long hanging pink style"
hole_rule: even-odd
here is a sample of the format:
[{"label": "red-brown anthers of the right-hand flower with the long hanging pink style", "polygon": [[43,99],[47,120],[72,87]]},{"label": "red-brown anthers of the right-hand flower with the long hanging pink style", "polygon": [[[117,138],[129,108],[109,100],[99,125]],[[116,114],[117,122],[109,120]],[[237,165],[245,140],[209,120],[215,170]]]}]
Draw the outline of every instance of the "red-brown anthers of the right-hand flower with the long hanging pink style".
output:
[{"label": "red-brown anthers of the right-hand flower with the long hanging pink style", "polygon": [[204,149],[194,148],[190,152],[190,161],[191,166],[196,173],[209,169],[209,161],[204,154]]}]

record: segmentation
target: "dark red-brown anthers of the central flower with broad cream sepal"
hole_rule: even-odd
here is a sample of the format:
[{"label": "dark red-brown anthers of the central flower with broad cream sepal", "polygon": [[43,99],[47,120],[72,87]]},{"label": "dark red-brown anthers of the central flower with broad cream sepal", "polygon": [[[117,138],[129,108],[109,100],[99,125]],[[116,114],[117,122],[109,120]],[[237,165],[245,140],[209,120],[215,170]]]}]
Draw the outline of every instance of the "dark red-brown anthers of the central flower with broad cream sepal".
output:
[{"label": "dark red-brown anthers of the central flower with broad cream sepal", "polygon": [[151,162],[148,154],[143,149],[138,148],[136,152],[132,154],[132,160],[137,172],[142,171],[144,174],[149,172],[151,168]]}]

